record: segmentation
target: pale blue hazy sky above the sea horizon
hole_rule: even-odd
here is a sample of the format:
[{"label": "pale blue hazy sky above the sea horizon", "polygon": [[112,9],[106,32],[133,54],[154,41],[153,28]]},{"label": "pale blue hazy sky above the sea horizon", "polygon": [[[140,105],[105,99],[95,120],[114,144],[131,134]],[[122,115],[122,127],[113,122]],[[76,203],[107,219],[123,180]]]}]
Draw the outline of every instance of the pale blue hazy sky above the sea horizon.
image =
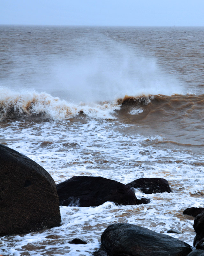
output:
[{"label": "pale blue hazy sky above the sea horizon", "polygon": [[0,0],[0,24],[204,26],[204,0]]}]

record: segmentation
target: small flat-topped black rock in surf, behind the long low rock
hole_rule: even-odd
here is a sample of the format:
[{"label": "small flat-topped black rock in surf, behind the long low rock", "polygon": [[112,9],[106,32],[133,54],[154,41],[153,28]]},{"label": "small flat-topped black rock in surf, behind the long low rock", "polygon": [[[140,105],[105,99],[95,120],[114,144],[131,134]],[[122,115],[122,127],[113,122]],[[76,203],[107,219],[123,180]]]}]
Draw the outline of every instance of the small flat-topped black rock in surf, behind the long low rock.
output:
[{"label": "small flat-topped black rock in surf, behind the long low rock", "polygon": [[127,185],[132,188],[140,188],[145,194],[172,192],[169,182],[161,178],[140,178]]}]

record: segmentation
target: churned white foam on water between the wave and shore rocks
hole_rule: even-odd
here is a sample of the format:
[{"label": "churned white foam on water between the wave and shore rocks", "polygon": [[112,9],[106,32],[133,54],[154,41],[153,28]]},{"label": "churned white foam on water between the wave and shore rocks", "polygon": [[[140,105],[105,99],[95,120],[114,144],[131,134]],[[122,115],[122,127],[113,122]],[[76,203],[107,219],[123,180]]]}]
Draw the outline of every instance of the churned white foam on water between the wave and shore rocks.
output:
[{"label": "churned white foam on water between the wave and shore rocks", "polygon": [[[135,189],[138,198],[150,204],[117,206],[106,202],[97,207],[60,207],[62,225],[39,232],[1,238],[3,255],[92,255],[99,248],[103,230],[112,223],[128,222],[166,234],[189,244],[195,236],[193,217],[183,215],[188,207],[203,207],[203,158],[190,150],[161,149],[154,140],[128,133],[134,125],[117,121],[25,121],[8,123],[0,129],[1,142],[42,165],[56,183],[74,175],[102,176],[125,184],[136,178],[158,177],[169,181],[173,193],[146,195]],[[126,132],[125,132],[126,131]],[[200,163],[200,164],[198,164]],[[81,238],[86,245],[68,244]]]}]

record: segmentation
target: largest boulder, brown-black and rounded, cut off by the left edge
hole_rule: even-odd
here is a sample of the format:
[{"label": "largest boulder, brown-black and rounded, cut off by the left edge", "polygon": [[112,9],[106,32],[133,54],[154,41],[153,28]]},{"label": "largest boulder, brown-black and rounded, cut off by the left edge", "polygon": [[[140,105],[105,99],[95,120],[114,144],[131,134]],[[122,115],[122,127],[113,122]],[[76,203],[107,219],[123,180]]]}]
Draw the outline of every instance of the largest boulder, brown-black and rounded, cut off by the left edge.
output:
[{"label": "largest boulder, brown-black and rounded, cut off by the left edge", "polygon": [[0,236],[59,226],[52,177],[39,164],[0,144]]}]

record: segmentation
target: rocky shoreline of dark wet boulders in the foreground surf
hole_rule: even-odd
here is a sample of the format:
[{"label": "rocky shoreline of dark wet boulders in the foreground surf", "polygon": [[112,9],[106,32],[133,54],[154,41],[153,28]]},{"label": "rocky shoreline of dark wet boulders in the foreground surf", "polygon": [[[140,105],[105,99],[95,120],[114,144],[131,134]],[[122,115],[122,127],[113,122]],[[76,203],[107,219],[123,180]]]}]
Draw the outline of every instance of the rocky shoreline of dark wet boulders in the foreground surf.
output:
[{"label": "rocky shoreline of dark wet boulders in the foreground surf", "polygon": [[[172,192],[168,181],[159,178],[141,178],[125,185],[102,177],[74,176],[55,185],[40,165],[1,144],[0,163],[0,236],[59,226],[59,205],[89,207],[106,201],[118,205],[148,204],[149,199],[135,196],[134,188],[146,194]],[[117,223],[105,229],[101,236],[102,248],[94,255],[204,255],[203,210],[188,208],[184,211],[195,217],[194,248],[147,228]],[[74,239],[70,243],[86,242]]]}]

